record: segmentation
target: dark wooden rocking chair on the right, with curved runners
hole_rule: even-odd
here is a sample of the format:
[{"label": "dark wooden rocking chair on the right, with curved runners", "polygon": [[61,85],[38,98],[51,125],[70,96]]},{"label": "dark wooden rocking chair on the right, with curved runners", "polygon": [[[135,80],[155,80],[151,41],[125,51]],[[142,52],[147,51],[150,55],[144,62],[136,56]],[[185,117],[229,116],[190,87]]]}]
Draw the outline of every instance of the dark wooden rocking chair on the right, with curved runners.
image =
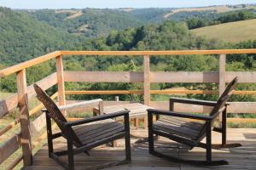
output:
[{"label": "dark wooden rocking chair on the right, with curved runners", "polygon": [[[233,94],[236,88],[238,78],[234,78],[232,82],[225,88],[224,93],[219,97],[217,102],[195,100],[195,99],[170,99],[170,111],[160,111],[155,109],[148,109],[148,147],[149,153],[154,156],[160,156],[170,161],[177,161],[189,164],[204,164],[204,165],[224,165],[228,161],[212,161],[212,148],[222,149],[238,147],[241,144],[227,144],[226,143],[226,111],[227,100]],[[201,116],[189,113],[181,113],[173,111],[174,103],[183,103],[191,105],[207,105],[212,106],[213,109],[209,116]],[[217,120],[219,114],[222,113],[222,126],[214,127],[214,122]],[[153,122],[153,116],[156,115],[156,122]],[[212,144],[212,129],[218,133],[222,133],[222,144]],[[180,144],[189,145],[192,150],[194,147],[201,147],[207,150],[207,160],[185,160],[175,156],[167,156],[159,151],[154,150],[154,134],[156,136],[163,136],[172,139]],[[206,143],[201,140],[206,139]]]}]

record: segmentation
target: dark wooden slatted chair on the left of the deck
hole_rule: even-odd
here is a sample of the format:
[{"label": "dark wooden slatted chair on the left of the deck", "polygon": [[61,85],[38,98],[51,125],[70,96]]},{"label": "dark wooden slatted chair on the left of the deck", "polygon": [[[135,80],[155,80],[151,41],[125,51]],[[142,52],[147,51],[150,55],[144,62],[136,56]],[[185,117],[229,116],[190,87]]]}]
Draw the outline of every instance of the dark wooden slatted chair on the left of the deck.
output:
[{"label": "dark wooden slatted chair on the left of the deck", "polygon": [[[65,169],[74,169],[73,156],[81,152],[89,155],[88,151],[96,146],[108,144],[115,139],[125,137],[125,160],[109,163],[105,166],[120,165],[131,162],[131,142],[129,111],[119,111],[111,114],[93,116],[79,121],[67,122],[62,115],[60,108],[49,98],[37,84],[34,84],[37,98],[44,104],[46,110],[46,125],[48,134],[49,157],[53,158]],[[61,109],[67,109],[61,106]],[[125,123],[115,122],[113,118],[124,116]],[[60,128],[60,133],[52,133],[51,119],[55,121]],[[63,137],[67,139],[67,150],[54,151],[53,139]],[[73,145],[76,148],[73,148]],[[59,159],[59,156],[68,155],[68,164]],[[95,166],[99,169],[104,166]]]}]

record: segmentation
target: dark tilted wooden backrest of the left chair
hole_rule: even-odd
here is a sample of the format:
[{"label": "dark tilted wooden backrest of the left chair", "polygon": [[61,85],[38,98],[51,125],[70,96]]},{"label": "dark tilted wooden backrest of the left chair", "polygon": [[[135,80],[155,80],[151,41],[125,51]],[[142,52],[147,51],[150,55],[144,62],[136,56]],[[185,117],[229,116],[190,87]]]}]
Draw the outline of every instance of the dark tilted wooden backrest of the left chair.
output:
[{"label": "dark tilted wooden backrest of the left chair", "polygon": [[[34,89],[37,93],[37,98],[44,104],[47,109],[46,114],[50,116],[61,129],[61,133],[67,137],[67,128],[63,126],[63,122],[67,122],[65,116],[62,115],[60,109],[55,104],[55,102],[50,99],[49,95],[44,92],[42,88],[40,88],[37,84],[34,84]],[[71,135],[73,136],[74,142],[76,144],[81,144],[77,135],[71,130]]]}]

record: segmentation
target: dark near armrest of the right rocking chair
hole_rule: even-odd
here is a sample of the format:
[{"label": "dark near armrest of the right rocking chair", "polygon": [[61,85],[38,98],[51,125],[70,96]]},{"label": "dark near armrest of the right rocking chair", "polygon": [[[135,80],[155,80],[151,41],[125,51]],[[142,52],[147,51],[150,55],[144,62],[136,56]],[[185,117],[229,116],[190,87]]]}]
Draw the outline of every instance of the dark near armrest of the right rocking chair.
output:
[{"label": "dark near armrest of the right rocking chair", "polygon": [[155,110],[155,109],[148,109],[147,111],[148,111],[148,114],[177,116],[177,117],[190,118],[190,119],[196,119],[201,121],[211,121],[214,118],[214,116],[201,116],[201,115],[194,115],[194,114],[181,113],[181,112],[175,112],[175,111],[161,111],[161,110]]}]

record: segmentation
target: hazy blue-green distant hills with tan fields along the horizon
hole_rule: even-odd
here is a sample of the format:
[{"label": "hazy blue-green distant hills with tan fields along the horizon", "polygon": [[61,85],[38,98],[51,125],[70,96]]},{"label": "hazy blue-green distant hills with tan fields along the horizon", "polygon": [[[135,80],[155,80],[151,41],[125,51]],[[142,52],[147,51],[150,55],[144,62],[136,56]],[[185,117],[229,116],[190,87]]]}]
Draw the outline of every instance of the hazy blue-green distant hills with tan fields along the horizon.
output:
[{"label": "hazy blue-green distant hills with tan fields along the horizon", "polygon": [[220,5],[198,8],[81,8],[25,10],[37,20],[44,21],[69,33],[84,37],[108,36],[113,30],[124,30],[165,20],[183,21],[193,17],[207,20],[219,14],[238,10],[255,10],[254,5]]}]

